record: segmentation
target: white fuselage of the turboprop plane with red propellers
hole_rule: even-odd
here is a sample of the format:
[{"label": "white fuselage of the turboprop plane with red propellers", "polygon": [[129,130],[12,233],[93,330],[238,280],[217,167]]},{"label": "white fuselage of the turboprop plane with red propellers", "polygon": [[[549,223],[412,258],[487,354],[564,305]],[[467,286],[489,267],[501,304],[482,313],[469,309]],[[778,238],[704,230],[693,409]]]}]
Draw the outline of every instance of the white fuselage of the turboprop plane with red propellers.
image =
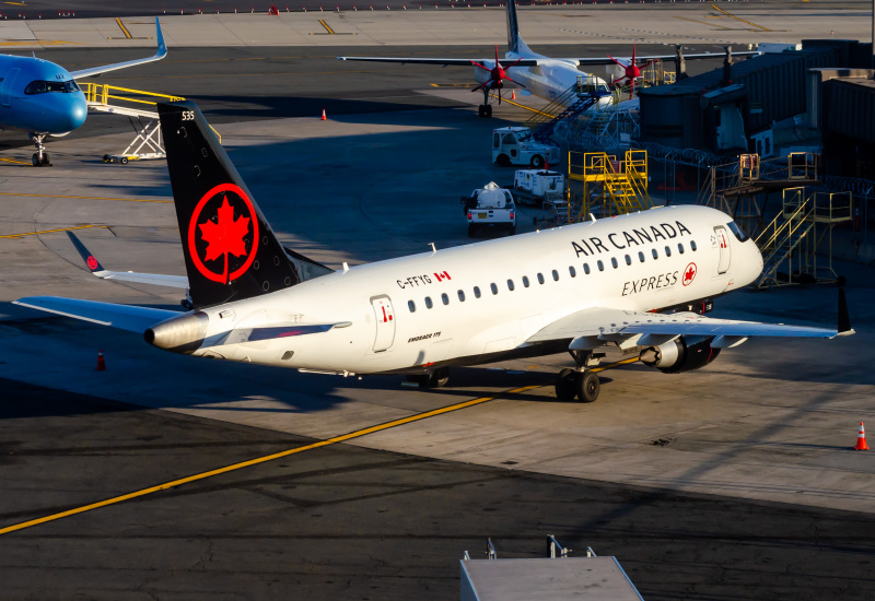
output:
[{"label": "white fuselage of the turboprop plane with red propellers", "polygon": [[[504,60],[500,61],[505,68],[520,58],[538,59],[537,67],[512,67],[508,69],[508,75],[525,85],[526,91],[535,96],[547,101],[562,98],[572,86],[578,84],[598,86],[605,96],[598,102],[597,106],[610,104],[610,89],[607,83],[593,75],[578,69],[578,64],[571,59],[549,58],[526,48],[523,54],[506,52]],[[492,69],[494,60],[485,60],[483,66]],[[477,83],[490,81],[490,73],[483,69],[475,69],[474,73]],[[511,84],[513,85],[513,84]],[[576,98],[572,98],[575,101]],[[567,103],[568,104],[568,103]]]}]

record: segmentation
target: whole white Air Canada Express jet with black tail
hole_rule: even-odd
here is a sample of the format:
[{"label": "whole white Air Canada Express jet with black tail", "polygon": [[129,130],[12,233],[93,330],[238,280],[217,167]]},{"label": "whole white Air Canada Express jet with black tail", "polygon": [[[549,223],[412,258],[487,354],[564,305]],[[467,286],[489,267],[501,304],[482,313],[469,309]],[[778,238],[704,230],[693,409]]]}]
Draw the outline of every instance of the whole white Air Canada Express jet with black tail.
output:
[{"label": "whole white Air Canada Express jet with black tail", "polygon": [[[751,283],[762,257],[705,207],[652,209],[332,271],[283,248],[198,108],[160,104],[185,278],[97,276],[188,287],[187,311],[39,296],[16,304],[144,334],[196,356],[446,382],[448,367],[570,352],[560,399],[598,397],[606,345],[663,372],[696,369],[749,337],[852,333],[711,319],[711,299]],[[681,310],[677,310],[681,308]],[[669,310],[675,313],[668,313]]]}]

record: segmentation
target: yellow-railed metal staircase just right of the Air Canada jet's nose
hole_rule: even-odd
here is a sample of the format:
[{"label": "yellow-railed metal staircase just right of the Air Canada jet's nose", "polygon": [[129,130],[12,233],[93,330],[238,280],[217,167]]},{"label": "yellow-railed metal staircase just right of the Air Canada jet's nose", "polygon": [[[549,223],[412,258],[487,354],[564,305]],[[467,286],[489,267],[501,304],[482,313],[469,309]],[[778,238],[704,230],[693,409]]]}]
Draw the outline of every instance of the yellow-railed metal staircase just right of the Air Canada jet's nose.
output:
[{"label": "yellow-railed metal staircase just right of the Air Canada jet's nose", "polygon": [[[805,192],[804,187],[785,189],[783,210],[757,236],[763,264],[756,287],[835,281],[832,229],[851,221],[852,197],[850,192]],[[818,264],[824,243],[828,247]],[[779,271],[782,267],[783,272]]]}]

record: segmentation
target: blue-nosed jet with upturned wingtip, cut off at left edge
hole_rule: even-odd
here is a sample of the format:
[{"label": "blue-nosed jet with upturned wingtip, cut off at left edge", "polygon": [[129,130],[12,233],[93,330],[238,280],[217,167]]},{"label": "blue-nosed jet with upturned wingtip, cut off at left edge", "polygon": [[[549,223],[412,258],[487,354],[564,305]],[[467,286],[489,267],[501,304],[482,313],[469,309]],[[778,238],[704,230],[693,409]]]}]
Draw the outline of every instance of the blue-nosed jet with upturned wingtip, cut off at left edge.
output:
[{"label": "blue-nosed jet with upturned wingtip, cut off at left edge", "polygon": [[88,103],[77,80],[163,59],[167,47],[158,19],[155,38],[158,51],[151,57],[72,72],[36,56],[0,55],[0,128],[28,132],[36,145],[34,166],[49,165],[46,137],[67,135],[85,122]]}]

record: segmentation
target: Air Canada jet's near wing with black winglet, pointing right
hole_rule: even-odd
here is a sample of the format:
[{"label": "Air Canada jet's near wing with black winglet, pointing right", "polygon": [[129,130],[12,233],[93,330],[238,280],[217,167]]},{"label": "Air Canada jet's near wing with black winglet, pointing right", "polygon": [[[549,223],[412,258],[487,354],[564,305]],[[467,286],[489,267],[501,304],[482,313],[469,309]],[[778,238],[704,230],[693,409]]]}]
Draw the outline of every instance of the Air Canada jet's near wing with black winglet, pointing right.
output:
[{"label": "Air Canada jet's near wing with black winglet, pointing right", "polygon": [[784,323],[760,323],[714,319],[695,313],[655,314],[610,308],[590,308],[573,313],[532,335],[526,342],[571,340],[571,349],[595,349],[640,335],[640,345],[664,344],[679,335],[715,337],[714,347],[734,346],[751,337],[835,338],[852,334],[843,291],[839,296],[839,328],[810,328]]}]

